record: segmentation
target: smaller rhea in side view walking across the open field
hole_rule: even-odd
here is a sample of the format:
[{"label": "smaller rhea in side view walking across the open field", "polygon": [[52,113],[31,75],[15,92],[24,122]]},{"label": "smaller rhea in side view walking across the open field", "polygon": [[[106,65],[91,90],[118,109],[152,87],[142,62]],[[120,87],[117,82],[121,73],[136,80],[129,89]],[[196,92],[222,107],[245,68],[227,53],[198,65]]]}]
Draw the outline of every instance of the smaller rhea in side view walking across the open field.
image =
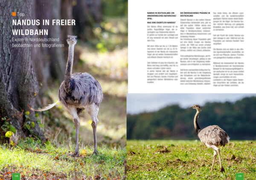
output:
[{"label": "smaller rhea in side view walking across the open field", "polygon": [[[213,159],[212,159],[212,168],[213,168],[213,164],[215,162],[216,156],[218,154],[220,167],[221,167],[220,172],[225,172],[221,164],[221,155],[220,155],[219,146],[225,146],[229,142],[230,137],[227,135],[227,132],[225,132],[223,129],[221,129],[216,125],[212,125],[204,129],[200,129],[198,125],[198,115],[201,112],[201,107],[198,104],[195,104],[194,106],[191,106],[191,108],[196,109],[194,126],[195,126],[195,132],[197,133],[198,138],[204,144],[204,146],[207,146],[208,148],[213,149],[214,153],[213,153]],[[210,172],[212,172],[212,168]]]}]

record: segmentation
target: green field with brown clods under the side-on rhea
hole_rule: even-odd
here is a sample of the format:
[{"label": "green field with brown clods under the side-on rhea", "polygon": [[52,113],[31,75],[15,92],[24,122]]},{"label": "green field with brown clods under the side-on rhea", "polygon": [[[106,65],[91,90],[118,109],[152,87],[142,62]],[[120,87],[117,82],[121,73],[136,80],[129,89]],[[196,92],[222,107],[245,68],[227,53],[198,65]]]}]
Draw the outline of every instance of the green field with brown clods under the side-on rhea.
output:
[{"label": "green field with brown clods under the side-on rhea", "polygon": [[[236,159],[232,158],[232,155]],[[213,150],[200,141],[127,141],[129,180],[244,180],[256,177],[256,141],[230,141],[221,147],[220,173],[218,157],[210,173]]]}]

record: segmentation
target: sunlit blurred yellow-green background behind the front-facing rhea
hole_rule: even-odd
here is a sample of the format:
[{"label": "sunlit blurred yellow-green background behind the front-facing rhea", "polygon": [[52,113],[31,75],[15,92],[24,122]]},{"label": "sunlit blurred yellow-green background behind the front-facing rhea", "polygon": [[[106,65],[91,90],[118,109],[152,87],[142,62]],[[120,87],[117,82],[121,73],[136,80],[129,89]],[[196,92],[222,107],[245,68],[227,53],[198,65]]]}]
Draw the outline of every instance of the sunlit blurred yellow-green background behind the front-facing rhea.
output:
[{"label": "sunlit blurred yellow-green background behind the front-facing rhea", "polygon": [[[98,143],[123,147],[126,145],[128,90],[128,1],[102,0],[100,4],[99,12],[93,11],[93,13],[99,13],[101,17],[97,19],[93,13],[89,14],[92,17],[88,18],[88,23],[84,26],[81,24],[79,26],[78,23],[73,27],[74,34],[79,37],[73,72],[90,73],[102,86],[104,99],[98,115]],[[73,14],[74,9],[76,7],[73,8]],[[79,19],[76,22],[79,22]],[[88,29],[89,32],[85,32]],[[58,98],[58,84],[53,83],[51,87],[46,94],[51,101],[55,101]],[[80,117],[81,143],[92,145],[93,131],[90,125],[92,120],[85,111]],[[73,121],[62,104],[45,113],[42,118],[45,118],[47,124],[44,130],[47,138],[57,142],[70,141],[70,138],[74,140]],[[55,133],[52,133],[53,131]]]}]

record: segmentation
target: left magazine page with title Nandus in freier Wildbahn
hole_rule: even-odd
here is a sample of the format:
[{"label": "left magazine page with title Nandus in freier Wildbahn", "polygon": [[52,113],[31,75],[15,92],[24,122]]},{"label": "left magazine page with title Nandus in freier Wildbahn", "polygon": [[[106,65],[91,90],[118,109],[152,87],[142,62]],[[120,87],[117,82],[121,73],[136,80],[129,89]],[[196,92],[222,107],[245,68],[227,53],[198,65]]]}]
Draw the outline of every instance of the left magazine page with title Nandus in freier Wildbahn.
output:
[{"label": "left magazine page with title Nandus in freier Wildbahn", "polygon": [[0,179],[125,177],[128,4],[0,1]]}]

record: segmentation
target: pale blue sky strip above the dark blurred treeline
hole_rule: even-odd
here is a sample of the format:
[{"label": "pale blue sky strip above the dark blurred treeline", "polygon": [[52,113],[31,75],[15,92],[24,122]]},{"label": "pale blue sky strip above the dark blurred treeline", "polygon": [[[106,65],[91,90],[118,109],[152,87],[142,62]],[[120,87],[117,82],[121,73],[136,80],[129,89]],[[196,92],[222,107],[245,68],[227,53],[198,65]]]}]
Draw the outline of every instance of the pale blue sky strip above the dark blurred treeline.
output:
[{"label": "pale blue sky strip above the dark blurred treeline", "polygon": [[172,104],[189,108],[194,104],[204,106],[206,102],[235,102],[251,96],[256,94],[127,94],[127,113],[151,112]]}]

